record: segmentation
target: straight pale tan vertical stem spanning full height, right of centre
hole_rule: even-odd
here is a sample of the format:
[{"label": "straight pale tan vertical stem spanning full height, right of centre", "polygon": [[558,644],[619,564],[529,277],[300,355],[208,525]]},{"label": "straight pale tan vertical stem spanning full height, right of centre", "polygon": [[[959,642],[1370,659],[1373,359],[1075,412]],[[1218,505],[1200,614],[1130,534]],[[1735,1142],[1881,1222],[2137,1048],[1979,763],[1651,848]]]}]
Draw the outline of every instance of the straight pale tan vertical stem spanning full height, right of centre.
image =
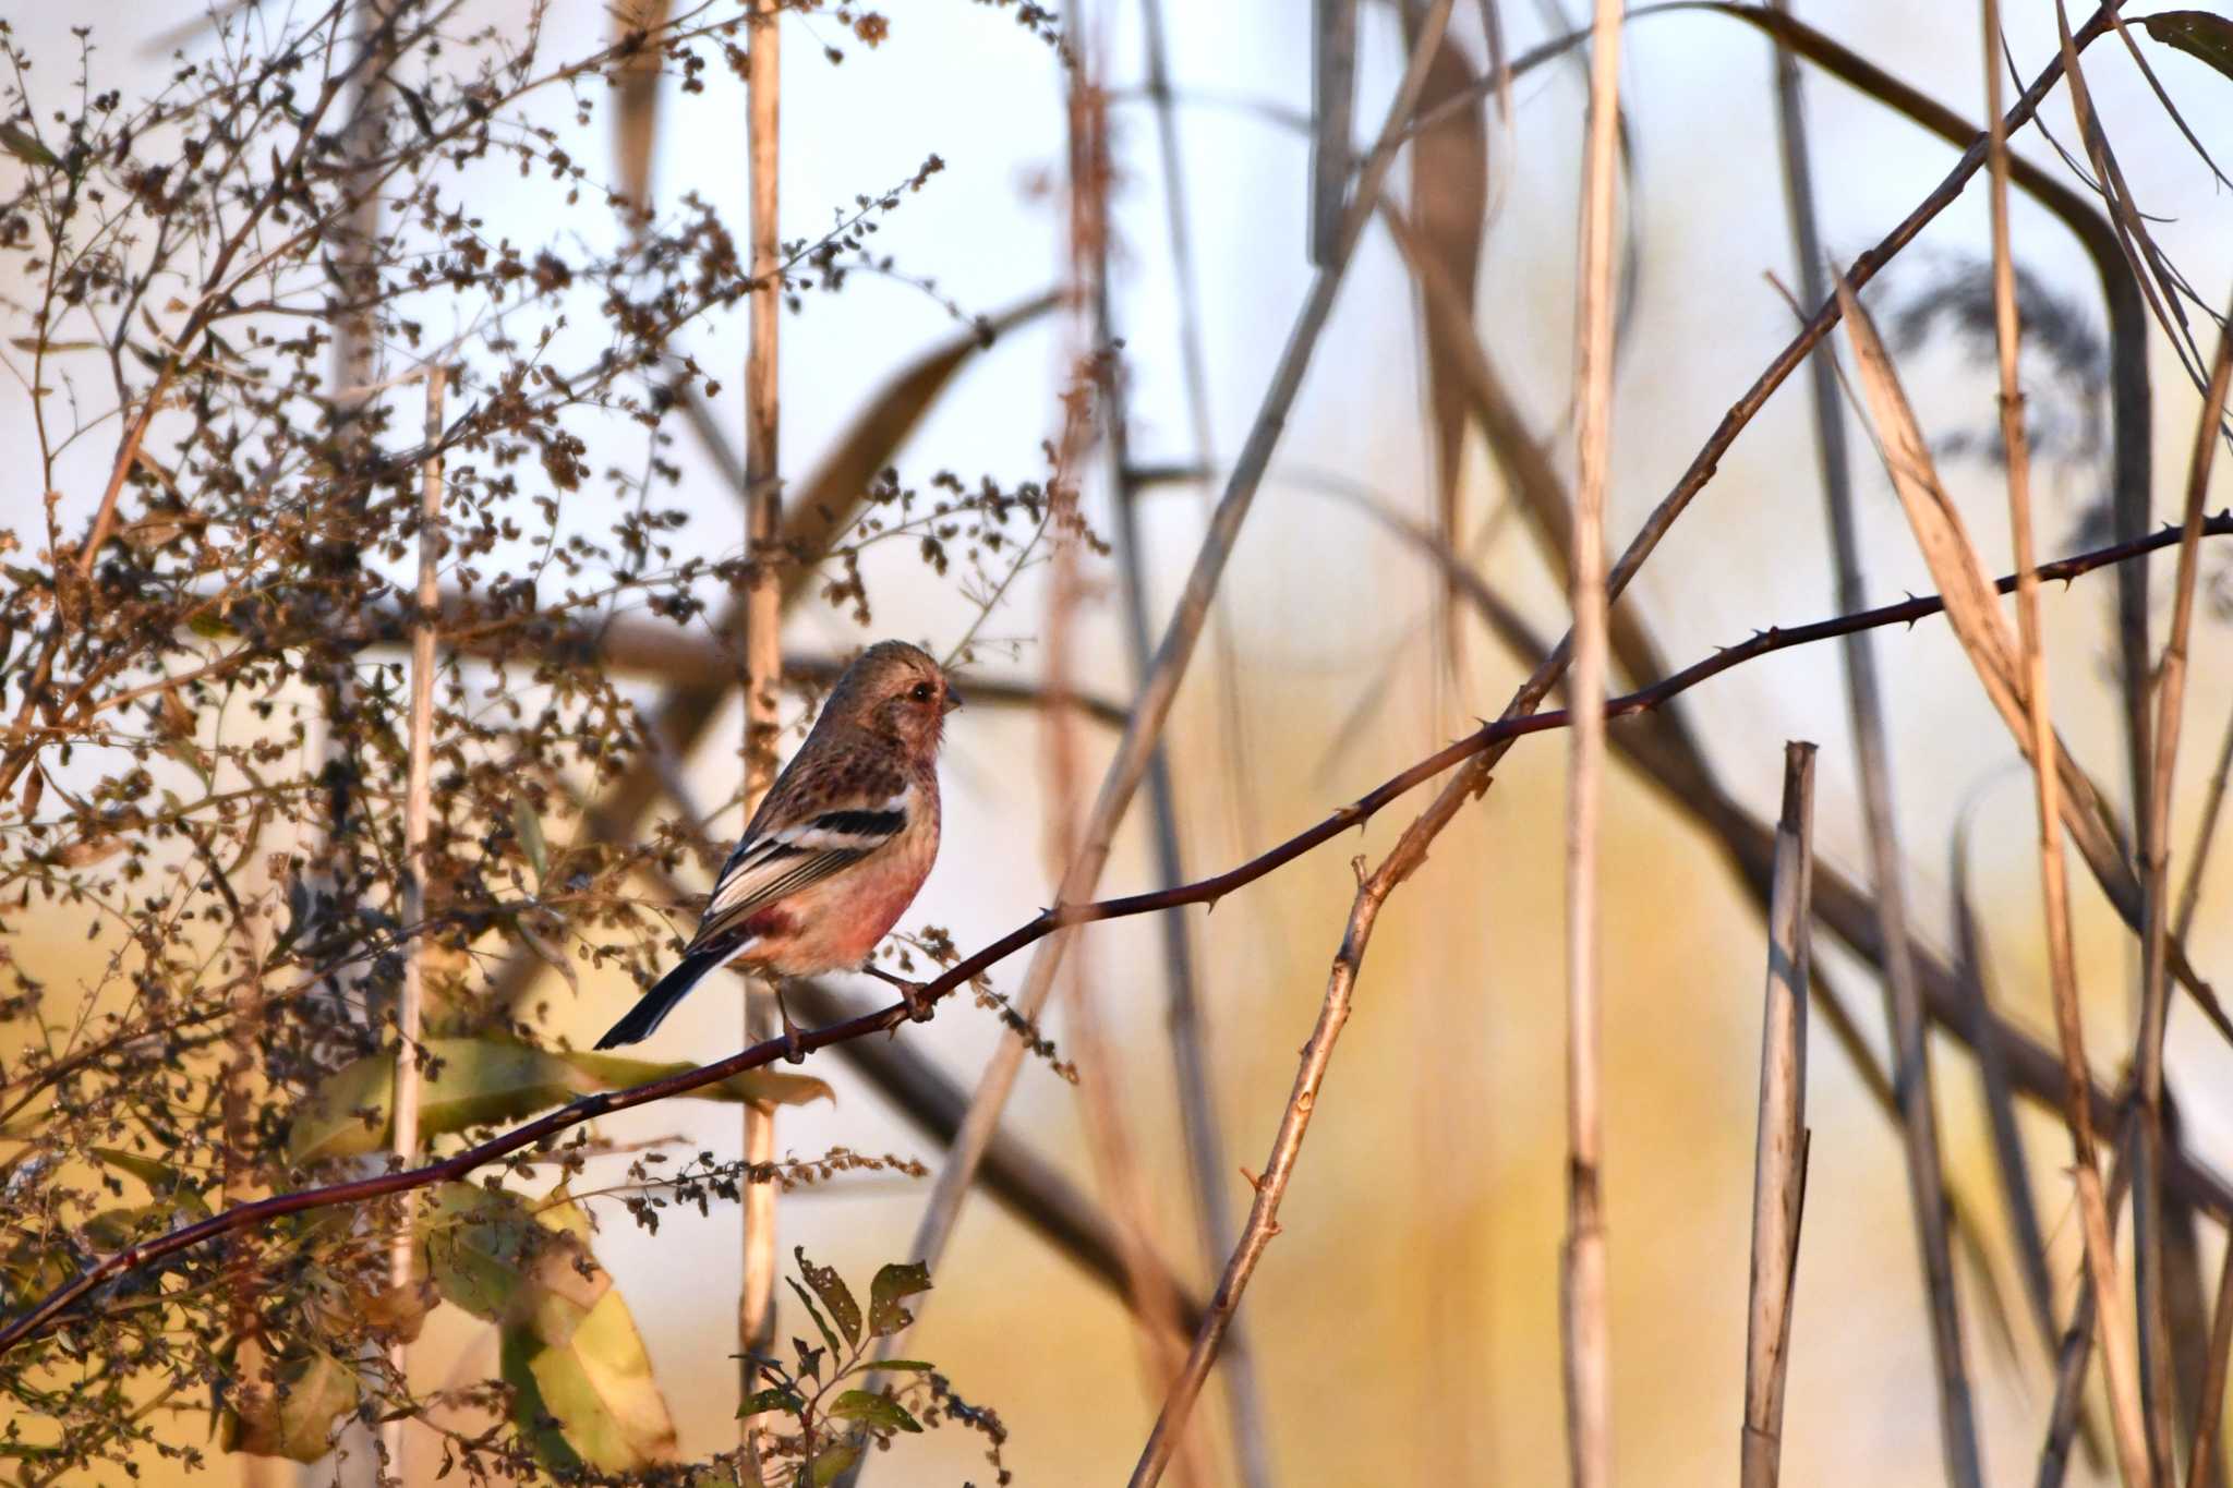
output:
[{"label": "straight pale tan vertical stem spanning full height, right of centre", "polygon": [[1581,268],[1576,308],[1574,547],[1568,596],[1574,609],[1574,671],[1568,696],[1574,732],[1565,819],[1565,1249],[1561,1339],[1565,1443],[1576,1488],[1612,1481],[1612,1361],[1606,1316],[1603,1098],[1597,834],[1606,779],[1606,484],[1612,464],[1612,187],[1621,103],[1621,0],[1597,0],[1590,40],[1590,132],[1581,176]]}]

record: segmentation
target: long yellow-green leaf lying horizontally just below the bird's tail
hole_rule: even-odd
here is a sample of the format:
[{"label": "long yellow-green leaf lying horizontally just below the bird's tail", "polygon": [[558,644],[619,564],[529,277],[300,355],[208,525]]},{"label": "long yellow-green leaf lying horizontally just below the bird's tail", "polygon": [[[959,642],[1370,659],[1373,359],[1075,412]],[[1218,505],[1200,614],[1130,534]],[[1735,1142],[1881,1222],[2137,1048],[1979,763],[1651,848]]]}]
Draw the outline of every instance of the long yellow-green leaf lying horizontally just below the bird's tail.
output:
[{"label": "long yellow-green leaf lying horizontally just below the bird's tail", "polygon": [[[427,1040],[424,1049],[429,1066],[427,1080],[420,1084],[422,1138],[514,1122],[576,1095],[616,1091],[694,1069],[601,1053],[556,1053],[493,1037],[435,1037]],[[288,1158],[324,1162],[384,1151],[393,1089],[393,1053],[364,1055],[326,1075],[288,1129]],[[692,1093],[706,1100],[753,1100],[779,1107],[835,1100],[831,1086],[813,1075],[764,1069],[730,1075]]]}]

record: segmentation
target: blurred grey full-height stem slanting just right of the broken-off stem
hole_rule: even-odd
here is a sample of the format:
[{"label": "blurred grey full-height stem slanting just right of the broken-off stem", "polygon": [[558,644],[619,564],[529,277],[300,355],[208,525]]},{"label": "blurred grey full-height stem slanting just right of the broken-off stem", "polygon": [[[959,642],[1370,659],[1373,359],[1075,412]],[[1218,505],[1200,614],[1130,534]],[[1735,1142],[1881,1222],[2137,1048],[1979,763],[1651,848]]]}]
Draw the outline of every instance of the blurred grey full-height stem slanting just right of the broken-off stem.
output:
[{"label": "blurred grey full-height stem slanting just right of the broken-off stem", "polygon": [[[1789,0],[1775,0],[1786,16]],[[1815,225],[1813,165],[1806,149],[1806,116],[1800,100],[1800,67],[1793,51],[1775,47],[1777,132],[1784,161],[1784,203],[1798,257],[1804,303],[1829,297],[1822,234]],[[2001,109],[1992,107],[1999,129]],[[1860,535],[1853,522],[1853,475],[1844,439],[1844,404],[1838,397],[1836,361],[1827,348],[1809,361],[1815,455],[1822,466],[1822,502],[1829,509],[1831,558],[1836,562],[1838,609],[1862,609],[1869,587],[1860,567]],[[1932,1365],[1938,1383],[1938,1448],[1947,1481],[1976,1488],[1981,1481],[1976,1412],[1963,1365],[1961,1305],[1954,1292],[1954,1254],[1947,1243],[1945,1176],[1938,1153],[1936,1082],[1923,1024],[1916,964],[1907,953],[1907,875],[1900,861],[1891,743],[1885,725],[1876,647],[1865,634],[1847,636],[1844,705],[1853,725],[1853,761],[1860,774],[1862,823],[1869,839],[1869,879],[1885,941],[1885,1022],[1894,1044],[1894,1089],[1900,1098],[1900,1149],[1907,1160],[1907,1200],[1923,1263],[1923,1294],[1932,1323]]]}]

